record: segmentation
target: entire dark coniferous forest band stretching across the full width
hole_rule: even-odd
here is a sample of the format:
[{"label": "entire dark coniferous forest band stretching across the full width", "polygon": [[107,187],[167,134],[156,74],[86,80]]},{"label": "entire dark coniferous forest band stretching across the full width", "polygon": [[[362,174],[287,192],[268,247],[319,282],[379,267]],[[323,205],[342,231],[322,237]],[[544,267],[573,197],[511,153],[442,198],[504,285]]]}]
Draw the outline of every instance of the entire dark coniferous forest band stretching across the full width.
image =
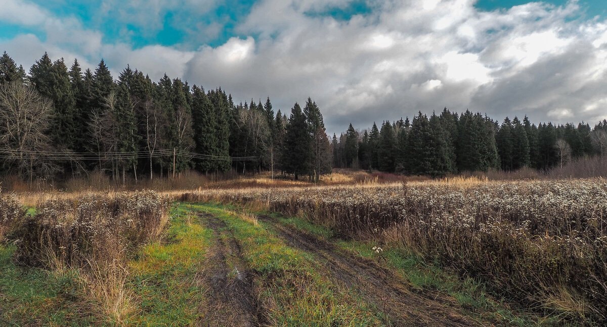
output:
[{"label": "entire dark coniferous forest band stretching across the full width", "polygon": [[[270,97],[235,103],[222,88],[205,90],[166,74],[160,81],[131,67],[117,79],[101,60],[94,71],[45,53],[26,73],[0,58],[1,174],[67,178],[105,171],[120,181],[182,171],[239,174],[274,170],[318,179],[332,168],[443,176],[463,171],[562,166],[607,153],[607,121],[591,126],[535,125],[524,116],[495,121],[444,108],[430,117],[381,127],[325,131],[311,97],[290,113]],[[482,108],[477,108],[482,111]],[[286,111],[286,110],[285,110]]]}]

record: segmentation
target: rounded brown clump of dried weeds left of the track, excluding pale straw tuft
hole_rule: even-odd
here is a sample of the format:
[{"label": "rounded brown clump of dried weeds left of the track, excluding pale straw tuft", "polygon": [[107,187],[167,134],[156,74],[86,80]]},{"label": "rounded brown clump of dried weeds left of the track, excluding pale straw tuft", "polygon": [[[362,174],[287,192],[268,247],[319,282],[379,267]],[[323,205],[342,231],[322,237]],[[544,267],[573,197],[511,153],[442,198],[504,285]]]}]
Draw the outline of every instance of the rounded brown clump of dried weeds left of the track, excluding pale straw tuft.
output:
[{"label": "rounded brown clump of dried weeds left of the track, excluding pale straw tuft", "polygon": [[159,239],[170,208],[170,200],[154,191],[48,200],[16,231],[16,256],[35,266],[116,260],[141,243]]}]

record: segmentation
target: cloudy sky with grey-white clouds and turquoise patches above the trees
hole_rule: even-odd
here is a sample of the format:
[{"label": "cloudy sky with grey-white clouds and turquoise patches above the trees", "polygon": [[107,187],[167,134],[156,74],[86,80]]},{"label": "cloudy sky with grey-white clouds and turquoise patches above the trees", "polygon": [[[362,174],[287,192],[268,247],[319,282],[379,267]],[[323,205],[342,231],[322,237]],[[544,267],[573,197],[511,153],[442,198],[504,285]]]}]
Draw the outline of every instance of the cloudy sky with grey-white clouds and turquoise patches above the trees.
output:
[{"label": "cloudy sky with grey-white clouds and turquoise patches above the trees", "polygon": [[607,118],[603,0],[0,0],[0,51],[47,51],[117,77],[221,86],[288,111],[312,97],[327,131],[443,107],[500,121]]}]

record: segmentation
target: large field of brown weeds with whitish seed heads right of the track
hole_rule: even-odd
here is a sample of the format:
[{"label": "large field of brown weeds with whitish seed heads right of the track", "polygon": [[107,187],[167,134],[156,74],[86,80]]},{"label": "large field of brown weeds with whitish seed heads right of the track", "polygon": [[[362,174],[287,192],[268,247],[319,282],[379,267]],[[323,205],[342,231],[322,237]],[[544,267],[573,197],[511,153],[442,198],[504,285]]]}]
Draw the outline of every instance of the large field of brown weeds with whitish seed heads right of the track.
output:
[{"label": "large field of brown weeds with whitish seed heads right of the track", "polygon": [[606,322],[605,179],[213,190],[180,200],[304,217],[344,237],[413,249],[527,308]]}]

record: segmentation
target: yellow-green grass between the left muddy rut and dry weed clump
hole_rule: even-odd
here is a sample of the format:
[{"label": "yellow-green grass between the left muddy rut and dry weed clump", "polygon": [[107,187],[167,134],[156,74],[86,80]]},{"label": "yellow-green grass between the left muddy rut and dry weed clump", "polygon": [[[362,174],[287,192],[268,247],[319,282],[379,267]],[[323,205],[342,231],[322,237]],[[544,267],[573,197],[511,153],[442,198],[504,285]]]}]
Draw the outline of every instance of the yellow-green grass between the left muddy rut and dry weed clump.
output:
[{"label": "yellow-green grass between the left muddy rut and dry weed clump", "polygon": [[136,326],[193,326],[201,319],[198,306],[205,288],[195,283],[212,231],[191,216],[196,206],[180,205],[172,213],[169,243],[152,243],[131,262],[129,288],[140,299],[138,314],[127,319]]}]

